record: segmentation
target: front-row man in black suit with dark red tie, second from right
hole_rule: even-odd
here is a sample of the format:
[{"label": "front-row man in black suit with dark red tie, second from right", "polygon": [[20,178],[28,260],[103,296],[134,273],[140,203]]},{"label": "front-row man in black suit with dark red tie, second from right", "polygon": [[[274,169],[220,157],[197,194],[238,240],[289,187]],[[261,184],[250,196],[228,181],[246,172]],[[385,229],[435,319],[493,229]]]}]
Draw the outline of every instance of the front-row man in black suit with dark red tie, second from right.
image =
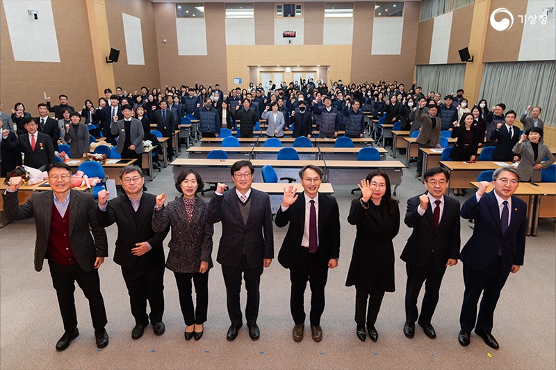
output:
[{"label": "front-row man in black suit with dark red tie, second from right", "polygon": [[[407,200],[404,223],[413,232],[400,256],[407,271],[404,335],[408,338],[415,335],[416,321],[427,337],[436,338],[431,319],[440,285],[446,267],[457,264],[459,257],[459,202],[445,195],[450,175],[444,168],[433,167],[424,178],[427,193]],[[425,280],[418,315],[417,298]]]}]

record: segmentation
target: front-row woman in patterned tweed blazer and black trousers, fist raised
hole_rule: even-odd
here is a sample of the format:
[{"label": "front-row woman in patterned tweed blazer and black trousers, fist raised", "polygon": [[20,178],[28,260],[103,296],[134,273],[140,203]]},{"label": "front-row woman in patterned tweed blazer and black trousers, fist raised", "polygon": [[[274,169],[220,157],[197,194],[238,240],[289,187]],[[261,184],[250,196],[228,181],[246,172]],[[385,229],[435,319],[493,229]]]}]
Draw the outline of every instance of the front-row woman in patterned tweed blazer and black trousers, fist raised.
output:
[{"label": "front-row woman in patterned tweed blazer and black trousers, fist raised", "polygon": [[[182,196],[167,207],[164,206],[164,193],[156,197],[152,226],[157,231],[172,227],[166,267],[176,278],[186,340],[199,340],[203,336],[208,308],[208,271],[213,268],[214,227],[206,222],[208,203],[197,195],[204,188],[199,174],[191,169],[180,172],[175,187]],[[197,296],[195,308],[191,297],[192,279]]]}]

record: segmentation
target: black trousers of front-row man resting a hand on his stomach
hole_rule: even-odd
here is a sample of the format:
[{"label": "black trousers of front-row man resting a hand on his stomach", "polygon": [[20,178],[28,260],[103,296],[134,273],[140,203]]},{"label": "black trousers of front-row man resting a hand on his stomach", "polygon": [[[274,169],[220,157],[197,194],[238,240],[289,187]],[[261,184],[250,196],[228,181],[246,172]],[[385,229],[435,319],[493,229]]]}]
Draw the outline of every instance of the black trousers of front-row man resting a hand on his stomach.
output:
[{"label": "black trousers of front-row man resting a hand on his stomach", "polygon": [[[136,264],[138,265],[138,264]],[[164,264],[150,267],[122,266],[122,275],[126,282],[131,314],[136,323],[159,323],[164,314]],[[151,313],[147,316],[147,300]]]}]

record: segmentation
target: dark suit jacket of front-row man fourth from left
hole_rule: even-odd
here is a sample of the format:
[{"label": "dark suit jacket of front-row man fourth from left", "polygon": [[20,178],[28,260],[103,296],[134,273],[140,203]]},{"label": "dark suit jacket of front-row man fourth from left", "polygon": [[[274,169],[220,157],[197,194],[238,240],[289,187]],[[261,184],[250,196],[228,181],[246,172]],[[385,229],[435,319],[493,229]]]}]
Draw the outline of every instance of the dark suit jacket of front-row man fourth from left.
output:
[{"label": "dark suit jacket of front-row man fourth from left", "polygon": [[262,191],[251,189],[251,209],[247,223],[243,223],[236,188],[224,195],[213,195],[206,209],[206,222],[222,221],[222,237],[216,260],[224,266],[238,266],[245,249],[250,268],[259,267],[263,259],[274,258],[272,211],[270,198]]}]

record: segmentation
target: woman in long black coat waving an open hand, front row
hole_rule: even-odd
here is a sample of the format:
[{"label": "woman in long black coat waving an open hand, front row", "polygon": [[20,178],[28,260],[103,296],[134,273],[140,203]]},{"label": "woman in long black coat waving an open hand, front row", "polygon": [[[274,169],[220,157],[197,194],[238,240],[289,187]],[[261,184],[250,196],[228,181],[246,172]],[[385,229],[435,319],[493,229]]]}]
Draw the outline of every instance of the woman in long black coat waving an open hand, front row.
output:
[{"label": "woman in long black coat waving an open hand, front row", "polygon": [[391,198],[390,179],[381,170],[370,172],[358,186],[361,197],[352,200],[347,216],[357,234],[345,286],[356,289],[357,337],[365,341],[366,326],[370,339],[377,341],[375,323],[382,298],[386,291],[395,291],[392,240],[400,231],[400,209]]}]

